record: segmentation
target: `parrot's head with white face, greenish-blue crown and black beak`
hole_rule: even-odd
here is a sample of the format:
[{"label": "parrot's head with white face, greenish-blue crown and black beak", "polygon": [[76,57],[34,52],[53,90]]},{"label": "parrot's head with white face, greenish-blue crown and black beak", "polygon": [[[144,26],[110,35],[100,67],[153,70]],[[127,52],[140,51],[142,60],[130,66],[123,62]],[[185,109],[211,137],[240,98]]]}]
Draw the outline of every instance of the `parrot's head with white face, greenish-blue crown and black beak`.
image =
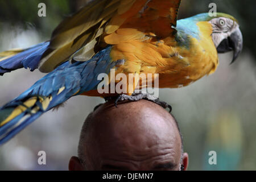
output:
[{"label": "parrot's head with white face, greenish-blue crown and black beak", "polygon": [[232,63],[237,59],[243,48],[243,37],[237,20],[228,14],[208,13],[196,15],[196,19],[207,21],[212,25],[212,40],[218,53],[233,51]]}]

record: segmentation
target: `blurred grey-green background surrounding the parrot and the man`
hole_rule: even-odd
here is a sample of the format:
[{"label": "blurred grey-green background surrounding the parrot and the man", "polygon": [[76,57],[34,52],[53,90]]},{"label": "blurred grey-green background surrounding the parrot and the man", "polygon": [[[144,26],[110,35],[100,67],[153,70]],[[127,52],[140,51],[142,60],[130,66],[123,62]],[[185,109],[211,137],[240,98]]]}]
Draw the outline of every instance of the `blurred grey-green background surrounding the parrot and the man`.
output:
[{"label": "blurred grey-green background surrounding the parrot and the man", "polygon": [[[46,3],[47,16],[38,16]],[[256,1],[183,0],[179,19],[209,11],[235,16],[240,22],[244,49],[236,63],[232,53],[220,55],[213,75],[179,89],[161,89],[160,99],[172,105],[180,123],[190,170],[256,169]],[[79,10],[85,0],[0,0],[0,51],[26,48],[46,41],[65,16]],[[0,105],[12,100],[44,76],[20,69],[0,77]],[[57,111],[49,111],[0,147],[0,170],[67,170],[77,155],[80,129],[101,98],[78,96]],[[47,164],[38,165],[38,152],[46,151]],[[216,151],[217,164],[208,155]]]}]

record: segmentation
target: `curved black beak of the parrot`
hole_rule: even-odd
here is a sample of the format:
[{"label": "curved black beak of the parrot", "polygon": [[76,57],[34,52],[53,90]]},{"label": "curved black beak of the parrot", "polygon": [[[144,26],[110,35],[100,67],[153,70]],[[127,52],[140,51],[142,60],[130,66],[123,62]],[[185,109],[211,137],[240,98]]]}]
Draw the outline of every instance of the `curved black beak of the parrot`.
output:
[{"label": "curved black beak of the parrot", "polygon": [[233,60],[230,63],[232,64],[237,59],[238,55],[242,51],[242,48],[243,48],[243,36],[239,27],[237,27],[236,31],[234,31],[228,38],[222,40],[220,45],[217,47],[217,51],[218,53],[234,51]]}]

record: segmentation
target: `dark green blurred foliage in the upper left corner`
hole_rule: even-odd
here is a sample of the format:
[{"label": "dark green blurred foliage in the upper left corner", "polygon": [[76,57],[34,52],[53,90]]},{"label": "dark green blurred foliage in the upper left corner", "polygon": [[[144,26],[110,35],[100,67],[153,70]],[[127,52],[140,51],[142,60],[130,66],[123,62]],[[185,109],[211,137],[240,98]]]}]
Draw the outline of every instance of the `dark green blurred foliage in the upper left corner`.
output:
[{"label": "dark green blurred foliage in the upper left corner", "polygon": [[[38,16],[38,4],[46,4],[46,17]],[[71,13],[68,0],[0,0],[0,22],[10,24],[26,23],[35,26],[44,36],[51,35],[51,31],[61,22],[67,14]],[[1,25],[1,24],[0,24]]]}]

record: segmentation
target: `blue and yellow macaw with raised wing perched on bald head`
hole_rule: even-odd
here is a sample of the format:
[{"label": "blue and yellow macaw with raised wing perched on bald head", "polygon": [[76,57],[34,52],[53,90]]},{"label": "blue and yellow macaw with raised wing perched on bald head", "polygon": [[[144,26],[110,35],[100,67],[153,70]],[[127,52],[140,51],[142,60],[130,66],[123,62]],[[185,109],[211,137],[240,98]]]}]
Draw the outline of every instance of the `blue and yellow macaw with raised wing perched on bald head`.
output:
[{"label": "blue and yellow macaw with raised wing perched on bald head", "polygon": [[91,1],[64,19],[49,41],[1,52],[0,75],[19,68],[47,75],[0,107],[0,144],[73,96],[142,98],[133,95],[138,79],[125,94],[99,93],[101,73],[156,73],[158,88],[179,88],[214,73],[218,53],[233,51],[233,63],[243,44],[237,19],[202,13],[177,20],[180,3]]}]

